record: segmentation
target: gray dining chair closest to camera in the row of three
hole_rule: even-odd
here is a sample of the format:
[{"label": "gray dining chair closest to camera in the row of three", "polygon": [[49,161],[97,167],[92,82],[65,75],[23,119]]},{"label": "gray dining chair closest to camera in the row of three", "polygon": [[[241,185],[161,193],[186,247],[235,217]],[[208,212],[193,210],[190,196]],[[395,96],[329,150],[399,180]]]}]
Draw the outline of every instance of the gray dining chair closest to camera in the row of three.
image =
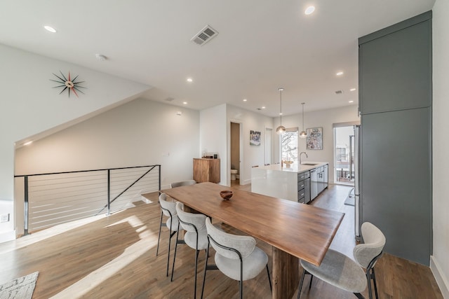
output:
[{"label": "gray dining chair closest to camera in the row of three", "polygon": [[232,235],[223,232],[210,223],[206,218],[208,240],[215,249],[215,265],[208,265],[209,247],[206,253],[206,267],[204,267],[204,284],[207,270],[220,270],[227,277],[238,280],[240,298],[243,298],[243,281],[253,279],[265,267],[267,269],[269,288],[272,289],[272,279],[269,277],[268,256],[262,249],[255,246],[255,239],[250,236]]}]

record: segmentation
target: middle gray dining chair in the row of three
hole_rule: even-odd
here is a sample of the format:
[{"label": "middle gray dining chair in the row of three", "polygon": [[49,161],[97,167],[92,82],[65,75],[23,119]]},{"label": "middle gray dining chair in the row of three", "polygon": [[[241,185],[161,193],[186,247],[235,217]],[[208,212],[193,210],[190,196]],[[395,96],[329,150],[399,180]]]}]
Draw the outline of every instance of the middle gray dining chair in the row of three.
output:
[{"label": "middle gray dining chair in the row of three", "polygon": [[206,215],[187,213],[183,210],[183,204],[177,202],[176,212],[177,218],[180,221],[181,227],[185,230],[184,242],[179,240],[179,232],[176,234],[175,255],[173,257],[173,267],[171,270],[171,280],[173,281],[173,273],[175,272],[175,260],[177,244],[187,244],[192,249],[196,250],[195,254],[195,286],[194,286],[194,298],[196,298],[196,272],[198,271],[198,255],[199,251],[206,250],[208,244],[208,232],[206,230]]}]

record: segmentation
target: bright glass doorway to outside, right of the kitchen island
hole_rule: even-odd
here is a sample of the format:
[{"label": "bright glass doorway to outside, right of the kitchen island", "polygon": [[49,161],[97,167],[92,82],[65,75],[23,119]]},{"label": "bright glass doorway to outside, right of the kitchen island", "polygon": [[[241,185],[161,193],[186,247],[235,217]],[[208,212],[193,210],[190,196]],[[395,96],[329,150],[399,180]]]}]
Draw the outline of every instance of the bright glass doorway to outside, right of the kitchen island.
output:
[{"label": "bright glass doorway to outside, right of the kitchen island", "polygon": [[334,183],[354,186],[354,125],[334,127]]}]

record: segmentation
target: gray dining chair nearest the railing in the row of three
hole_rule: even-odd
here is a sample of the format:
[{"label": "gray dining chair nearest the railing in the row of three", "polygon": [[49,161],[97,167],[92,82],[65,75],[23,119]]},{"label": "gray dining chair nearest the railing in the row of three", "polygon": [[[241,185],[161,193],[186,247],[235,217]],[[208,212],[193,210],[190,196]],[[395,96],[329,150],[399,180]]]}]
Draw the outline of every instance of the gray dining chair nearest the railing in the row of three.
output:
[{"label": "gray dining chair nearest the railing in the row of three", "polygon": [[[175,235],[179,227],[179,221],[176,215],[176,203],[168,202],[166,193],[161,193],[159,195],[159,204],[161,205],[161,221],[159,223],[159,237],[157,239],[157,249],[156,256],[159,253],[159,242],[161,241],[161,229],[163,226],[168,228],[168,257],[167,257],[167,275],[168,276],[168,265],[170,264],[170,244],[171,238]],[[163,215],[167,216],[168,219],[166,223],[162,223]]]}]

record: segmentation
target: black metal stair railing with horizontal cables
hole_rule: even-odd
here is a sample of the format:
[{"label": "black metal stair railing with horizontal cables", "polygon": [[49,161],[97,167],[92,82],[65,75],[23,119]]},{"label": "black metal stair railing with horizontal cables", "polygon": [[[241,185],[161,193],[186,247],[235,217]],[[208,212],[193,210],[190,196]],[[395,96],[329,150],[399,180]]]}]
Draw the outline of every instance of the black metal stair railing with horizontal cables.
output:
[{"label": "black metal stair railing with horizontal cables", "polygon": [[[161,190],[161,165],[17,175],[24,186],[24,232],[132,207]],[[113,198],[111,200],[111,198]]]}]

